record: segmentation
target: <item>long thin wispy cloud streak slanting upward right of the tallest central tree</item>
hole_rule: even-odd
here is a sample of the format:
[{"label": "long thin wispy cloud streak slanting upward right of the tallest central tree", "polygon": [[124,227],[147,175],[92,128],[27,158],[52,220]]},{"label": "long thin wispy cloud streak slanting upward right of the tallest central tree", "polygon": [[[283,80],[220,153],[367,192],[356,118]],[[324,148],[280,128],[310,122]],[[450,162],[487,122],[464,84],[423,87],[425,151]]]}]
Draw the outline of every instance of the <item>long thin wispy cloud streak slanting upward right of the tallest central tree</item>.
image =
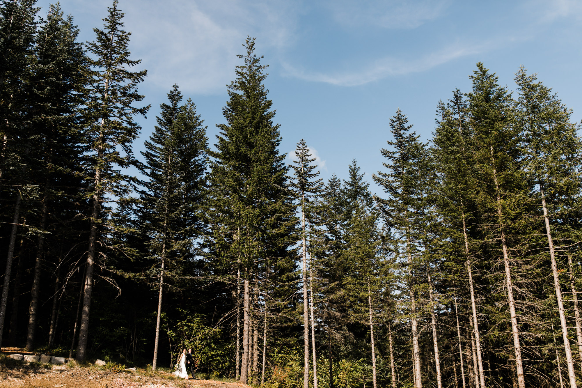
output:
[{"label": "long thin wispy cloud streak slanting upward right of the tallest central tree", "polygon": [[457,44],[409,61],[395,57],[384,57],[365,66],[365,68],[347,72],[309,72],[308,70],[297,68],[288,63],[284,63],[283,67],[290,76],[300,79],[330,83],[338,86],[357,86],[388,76],[423,72],[457,58],[480,54],[481,52],[490,50],[494,46],[495,44],[493,43],[479,45]]}]

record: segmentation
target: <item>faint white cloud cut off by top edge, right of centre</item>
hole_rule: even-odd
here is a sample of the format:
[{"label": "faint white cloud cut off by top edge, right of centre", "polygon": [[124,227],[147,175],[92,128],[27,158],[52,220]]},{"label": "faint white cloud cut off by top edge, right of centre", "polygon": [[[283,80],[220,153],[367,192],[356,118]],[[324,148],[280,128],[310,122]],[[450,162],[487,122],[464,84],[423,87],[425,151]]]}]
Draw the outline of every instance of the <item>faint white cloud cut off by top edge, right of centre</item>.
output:
[{"label": "faint white cloud cut off by top edge, right of centre", "polygon": [[436,19],[450,0],[331,0],[327,8],[336,22],[349,27],[373,25],[387,29],[414,29]]}]

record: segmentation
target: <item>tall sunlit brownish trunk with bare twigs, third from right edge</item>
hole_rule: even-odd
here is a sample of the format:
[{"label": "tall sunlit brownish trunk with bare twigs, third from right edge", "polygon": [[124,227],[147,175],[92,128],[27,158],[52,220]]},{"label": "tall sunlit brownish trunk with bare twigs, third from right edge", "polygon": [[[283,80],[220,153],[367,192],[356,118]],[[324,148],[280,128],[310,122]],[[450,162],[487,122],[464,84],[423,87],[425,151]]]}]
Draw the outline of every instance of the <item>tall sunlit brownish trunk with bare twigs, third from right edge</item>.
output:
[{"label": "tall sunlit brownish trunk with bare twigs, third from right edge", "polygon": [[501,233],[501,245],[503,250],[503,264],[505,266],[505,284],[508,290],[509,315],[511,318],[513,347],[515,350],[515,368],[517,372],[517,386],[526,388],[526,379],[523,374],[523,359],[521,358],[521,344],[519,341],[519,326],[517,326],[517,313],[515,309],[515,300],[513,299],[513,284],[511,280],[511,267],[509,265],[509,252],[507,239],[505,237],[505,228],[503,228],[503,211],[501,202],[501,193],[499,191],[499,182],[497,180],[497,171],[493,157],[493,146],[491,146],[491,165],[493,168],[493,179],[495,181],[495,194],[497,199],[497,215],[499,217],[499,232]]}]

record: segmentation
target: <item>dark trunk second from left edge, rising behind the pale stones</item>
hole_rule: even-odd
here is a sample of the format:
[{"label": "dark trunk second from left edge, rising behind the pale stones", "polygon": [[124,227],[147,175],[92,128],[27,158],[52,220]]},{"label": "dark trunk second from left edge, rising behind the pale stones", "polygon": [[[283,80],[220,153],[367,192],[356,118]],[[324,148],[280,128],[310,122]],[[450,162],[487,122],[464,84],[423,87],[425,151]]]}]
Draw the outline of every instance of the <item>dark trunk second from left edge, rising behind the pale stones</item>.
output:
[{"label": "dark trunk second from left edge, rising behind the pale stones", "polygon": [[48,216],[48,179],[44,188],[44,198],[42,199],[42,216],[40,220],[41,233],[38,235],[37,255],[34,260],[34,276],[33,288],[30,291],[30,306],[29,306],[29,328],[26,334],[26,350],[32,351],[34,347],[34,332],[36,330],[36,320],[38,312],[38,294],[40,293],[40,271],[41,259],[44,249],[44,231],[47,228]]}]

